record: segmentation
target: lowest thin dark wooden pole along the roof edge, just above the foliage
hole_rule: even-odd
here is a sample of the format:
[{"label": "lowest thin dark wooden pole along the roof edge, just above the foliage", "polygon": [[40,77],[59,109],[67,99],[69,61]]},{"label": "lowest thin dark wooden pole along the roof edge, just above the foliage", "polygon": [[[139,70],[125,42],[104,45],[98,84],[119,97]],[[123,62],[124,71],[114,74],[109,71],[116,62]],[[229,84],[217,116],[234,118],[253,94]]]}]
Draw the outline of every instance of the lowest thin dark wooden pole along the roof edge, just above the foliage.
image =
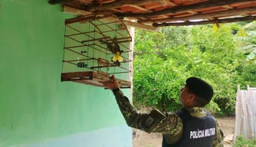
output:
[{"label": "lowest thin dark wooden pole along the roof edge, just above the foliage", "polygon": [[166,27],[166,26],[202,25],[202,24],[215,24],[217,21],[218,23],[231,23],[231,22],[238,22],[238,21],[255,21],[255,20],[256,20],[256,16],[248,16],[243,18],[215,19],[212,21],[185,21],[180,23],[162,23],[162,24],[154,23],[153,26]]}]

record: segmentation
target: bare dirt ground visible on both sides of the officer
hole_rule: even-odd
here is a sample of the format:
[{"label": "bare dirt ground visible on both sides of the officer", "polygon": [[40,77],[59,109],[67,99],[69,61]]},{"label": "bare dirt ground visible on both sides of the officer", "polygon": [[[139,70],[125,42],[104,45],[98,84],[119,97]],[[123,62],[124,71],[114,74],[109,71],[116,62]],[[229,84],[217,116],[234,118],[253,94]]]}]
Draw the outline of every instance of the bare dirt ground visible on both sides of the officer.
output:
[{"label": "bare dirt ground visible on both sides of the officer", "polygon": [[[232,135],[235,132],[235,117],[222,117],[217,118],[218,125],[222,129],[225,137]],[[133,147],[161,147],[162,135],[158,133],[148,134],[146,132],[133,129]],[[230,147],[228,143],[225,143],[225,147]]]}]

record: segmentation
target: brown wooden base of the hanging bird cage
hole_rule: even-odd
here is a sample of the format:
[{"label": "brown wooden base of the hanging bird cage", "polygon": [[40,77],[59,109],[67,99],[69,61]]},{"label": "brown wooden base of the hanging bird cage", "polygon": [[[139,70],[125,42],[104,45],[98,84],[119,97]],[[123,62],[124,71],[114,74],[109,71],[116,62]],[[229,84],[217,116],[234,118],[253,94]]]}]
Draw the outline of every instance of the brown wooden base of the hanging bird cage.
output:
[{"label": "brown wooden base of the hanging bird cage", "polygon": [[[61,82],[72,81],[76,83],[84,83],[95,87],[105,87],[101,82],[111,81],[111,77],[106,74],[96,73],[94,71],[61,73]],[[117,79],[120,88],[130,88],[130,81]],[[105,87],[107,88],[107,87]]]}]

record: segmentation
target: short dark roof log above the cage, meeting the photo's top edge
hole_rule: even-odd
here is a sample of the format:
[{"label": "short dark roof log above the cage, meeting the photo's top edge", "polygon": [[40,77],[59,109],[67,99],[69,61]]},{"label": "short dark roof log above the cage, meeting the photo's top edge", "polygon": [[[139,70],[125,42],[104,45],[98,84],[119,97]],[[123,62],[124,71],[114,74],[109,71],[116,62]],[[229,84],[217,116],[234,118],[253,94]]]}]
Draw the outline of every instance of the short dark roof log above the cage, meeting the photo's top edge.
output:
[{"label": "short dark roof log above the cage, meeting the photo's top edge", "polygon": [[127,0],[119,0],[116,2],[111,2],[103,5],[89,5],[84,8],[86,11],[98,11],[98,10],[106,10],[109,8],[118,8],[124,5],[145,5],[146,3],[149,2],[159,2],[161,0],[132,0],[132,1],[127,1]]}]

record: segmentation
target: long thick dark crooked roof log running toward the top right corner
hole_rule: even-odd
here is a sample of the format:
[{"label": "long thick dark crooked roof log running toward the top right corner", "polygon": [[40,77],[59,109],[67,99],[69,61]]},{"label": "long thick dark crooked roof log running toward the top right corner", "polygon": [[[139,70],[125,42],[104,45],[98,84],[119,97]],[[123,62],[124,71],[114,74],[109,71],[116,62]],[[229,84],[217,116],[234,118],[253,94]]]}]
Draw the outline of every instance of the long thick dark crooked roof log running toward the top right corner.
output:
[{"label": "long thick dark crooked roof log running toward the top right corner", "polygon": [[[180,5],[172,8],[166,8],[162,11],[154,11],[150,13],[136,13],[136,14],[123,13],[123,14],[118,14],[118,16],[122,18],[130,18],[130,17],[131,18],[151,18],[157,15],[175,14],[177,12],[190,11],[190,10],[199,9],[199,8],[209,8],[209,7],[216,7],[216,6],[222,6],[222,5],[231,5],[237,2],[253,2],[253,1],[254,0],[225,0],[225,1],[209,0],[207,2],[199,2],[192,5]],[[127,1],[127,2],[130,2],[130,1]]]}]

